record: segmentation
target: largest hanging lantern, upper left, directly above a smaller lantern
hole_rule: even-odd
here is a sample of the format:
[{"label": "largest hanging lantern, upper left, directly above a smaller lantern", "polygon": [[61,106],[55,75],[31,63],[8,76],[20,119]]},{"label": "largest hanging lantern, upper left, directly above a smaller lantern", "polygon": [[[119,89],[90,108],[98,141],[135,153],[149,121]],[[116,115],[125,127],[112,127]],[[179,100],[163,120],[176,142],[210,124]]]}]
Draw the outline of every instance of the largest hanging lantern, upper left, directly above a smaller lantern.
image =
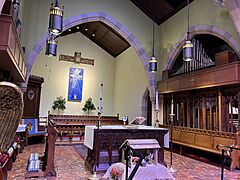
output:
[{"label": "largest hanging lantern, upper left, directly above a smaller lantern", "polygon": [[59,35],[63,27],[63,7],[60,8],[59,0],[56,0],[55,5],[52,3],[49,15],[49,33]]}]

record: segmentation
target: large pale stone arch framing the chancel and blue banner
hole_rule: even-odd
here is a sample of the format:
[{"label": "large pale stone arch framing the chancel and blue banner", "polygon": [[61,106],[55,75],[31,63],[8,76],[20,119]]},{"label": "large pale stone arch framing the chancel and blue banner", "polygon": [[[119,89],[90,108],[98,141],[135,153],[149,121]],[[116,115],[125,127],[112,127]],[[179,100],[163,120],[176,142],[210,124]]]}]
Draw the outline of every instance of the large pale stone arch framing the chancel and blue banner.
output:
[{"label": "large pale stone arch framing the chancel and blue banner", "polygon": [[[116,30],[119,34],[121,34],[133,48],[135,49],[139,59],[141,60],[146,75],[148,79],[148,85],[150,89],[150,96],[151,99],[154,100],[155,98],[155,89],[156,89],[156,78],[155,75],[150,73],[148,71],[148,59],[149,56],[145,53],[144,49],[141,47],[140,43],[137,41],[137,39],[134,37],[132,33],[130,33],[127,28],[125,28],[122,24],[117,22],[115,19],[113,19],[110,15],[104,13],[104,12],[92,12],[92,13],[86,13],[81,14],[79,16],[73,16],[69,19],[65,20],[63,23],[63,30],[66,30],[68,28],[71,28],[73,26],[76,26],[78,24],[86,23],[86,22],[93,22],[93,21],[101,21],[110,27],[112,27],[114,30]],[[42,51],[42,49],[46,45],[46,39],[48,37],[48,32],[45,33],[44,36],[38,41],[38,43],[34,46],[31,53],[27,56],[27,64],[28,64],[28,75],[27,79],[30,75],[33,63],[37,59],[38,55]]]}]

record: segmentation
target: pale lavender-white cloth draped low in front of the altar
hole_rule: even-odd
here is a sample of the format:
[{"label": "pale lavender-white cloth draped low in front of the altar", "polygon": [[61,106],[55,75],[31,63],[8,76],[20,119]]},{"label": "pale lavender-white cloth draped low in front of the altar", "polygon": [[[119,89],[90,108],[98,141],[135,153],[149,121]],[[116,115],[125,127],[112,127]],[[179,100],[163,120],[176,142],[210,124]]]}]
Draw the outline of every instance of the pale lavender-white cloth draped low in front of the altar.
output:
[{"label": "pale lavender-white cloth draped low in front of the altar", "polygon": [[[111,177],[111,171],[113,167],[117,167],[120,169],[123,169],[123,172],[120,176],[120,180],[125,180],[126,175],[126,165],[123,163],[115,163],[111,165],[107,172],[103,175],[102,179],[112,179]],[[131,174],[132,170],[134,169],[134,166],[132,168],[128,168],[128,176]],[[133,180],[156,180],[156,179],[168,179],[168,180],[174,180],[175,178],[172,176],[168,168],[161,164],[147,164],[146,167],[139,166]]]}]

